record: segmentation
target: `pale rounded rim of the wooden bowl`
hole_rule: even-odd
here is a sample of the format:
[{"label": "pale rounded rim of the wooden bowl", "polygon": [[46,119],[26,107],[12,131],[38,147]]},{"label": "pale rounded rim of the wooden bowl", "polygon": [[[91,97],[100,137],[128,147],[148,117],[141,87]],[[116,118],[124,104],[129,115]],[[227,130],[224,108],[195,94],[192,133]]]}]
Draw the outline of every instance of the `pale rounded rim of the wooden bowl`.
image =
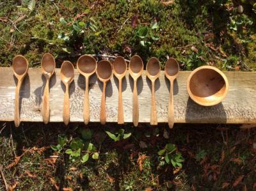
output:
[{"label": "pale rounded rim of the wooden bowl", "polygon": [[[209,69],[209,70],[214,70],[215,72],[219,73],[221,75],[221,77],[223,77],[224,81],[225,81],[225,85],[226,85],[226,89],[225,92],[223,93],[223,95],[221,96],[220,100],[217,100],[215,102],[211,102],[211,103],[205,103],[205,102],[199,102],[198,100],[196,100],[193,96],[193,93],[191,93],[190,90],[190,80],[193,77],[193,75],[198,72],[199,70],[204,70],[204,69]],[[189,97],[196,103],[198,103],[199,105],[203,105],[203,106],[213,106],[213,105],[217,105],[218,103],[222,102],[225,97],[227,96],[228,93],[228,89],[229,89],[229,84],[228,84],[228,79],[227,76],[225,75],[225,73],[221,72],[221,70],[219,70],[218,68],[214,67],[214,66],[200,66],[198,68],[196,68],[195,70],[193,70],[188,77],[187,80],[187,91],[189,94]]]}]

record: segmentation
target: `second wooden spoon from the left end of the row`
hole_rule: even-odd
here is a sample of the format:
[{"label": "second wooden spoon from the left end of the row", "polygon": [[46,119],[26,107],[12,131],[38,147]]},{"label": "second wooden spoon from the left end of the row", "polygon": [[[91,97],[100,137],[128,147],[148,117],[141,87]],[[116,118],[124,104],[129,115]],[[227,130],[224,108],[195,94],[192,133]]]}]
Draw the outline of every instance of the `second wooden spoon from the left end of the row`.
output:
[{"label": "second wooden spoon from the left end of the row", "polygon": [[54,57],[50,53],[44,54],[41,61],[41,70],[46,79],[42,107],[43,121],[45,124],[47,124],[50,119],[49,82],[52,77],[52,74],[55,71],[55,67],[56,64]]}]

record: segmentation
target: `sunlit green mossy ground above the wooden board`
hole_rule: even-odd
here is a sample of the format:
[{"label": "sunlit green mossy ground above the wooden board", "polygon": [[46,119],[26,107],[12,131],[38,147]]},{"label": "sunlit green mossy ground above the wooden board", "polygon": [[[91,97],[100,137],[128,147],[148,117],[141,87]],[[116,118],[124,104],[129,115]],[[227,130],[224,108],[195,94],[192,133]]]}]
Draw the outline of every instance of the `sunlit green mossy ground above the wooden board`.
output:
[{"label": "sunlit green mossy ground above the wooden board", "polygon": [[32,10],[21,2],[0,4],[1,66],[10,66],[16,54],[40,66],[42,54],[51,52],[58,66],[63,59],[76,63],[80,54],[138,54],[144,63],[155,56],[162,65],[175,57],[182,70],[207,64],[255,70],[256,13],[247,1],[242,14],[241,2],[230,0],[37,1]]}]

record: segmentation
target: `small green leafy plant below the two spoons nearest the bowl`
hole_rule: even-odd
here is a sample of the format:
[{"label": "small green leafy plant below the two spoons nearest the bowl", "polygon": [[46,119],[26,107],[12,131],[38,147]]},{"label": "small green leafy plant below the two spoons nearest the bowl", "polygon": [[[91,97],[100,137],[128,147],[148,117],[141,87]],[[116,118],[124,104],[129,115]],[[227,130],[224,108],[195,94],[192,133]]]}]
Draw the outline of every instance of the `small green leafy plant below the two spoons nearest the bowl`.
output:
[{"label": "small green leafy plant below the two spoons nearest the bowl", "polygon": [[[174,153],[174,151],[176,151],[177,148],[175,146],[175,144],[166,144],[166,146],[164,146],[163,149],[161,149],[160,151],[158,151],[158,155],[159,156],[163,156],[164,155],[164,161],[167,164],[172,164],[173,167],[182,167],[182,162],[184,162],[184,158],[182,157],[181,153]],[[161,164],[163,165],[163,162],[161,162]]]}]

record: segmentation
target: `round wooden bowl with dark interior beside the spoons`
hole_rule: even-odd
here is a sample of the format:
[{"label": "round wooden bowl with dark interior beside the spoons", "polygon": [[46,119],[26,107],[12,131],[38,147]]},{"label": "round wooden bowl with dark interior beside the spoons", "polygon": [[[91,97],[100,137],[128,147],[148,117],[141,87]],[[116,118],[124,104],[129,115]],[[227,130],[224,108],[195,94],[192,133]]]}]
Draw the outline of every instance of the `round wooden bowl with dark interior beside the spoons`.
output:
[{"label": "round wooden bowl with dark interior beside the spoons", "polygon": [[201,66],[190,73],[187,89],[190,98],[199,105],[217,105],[228,93],[228,80],[218,68]]}]

